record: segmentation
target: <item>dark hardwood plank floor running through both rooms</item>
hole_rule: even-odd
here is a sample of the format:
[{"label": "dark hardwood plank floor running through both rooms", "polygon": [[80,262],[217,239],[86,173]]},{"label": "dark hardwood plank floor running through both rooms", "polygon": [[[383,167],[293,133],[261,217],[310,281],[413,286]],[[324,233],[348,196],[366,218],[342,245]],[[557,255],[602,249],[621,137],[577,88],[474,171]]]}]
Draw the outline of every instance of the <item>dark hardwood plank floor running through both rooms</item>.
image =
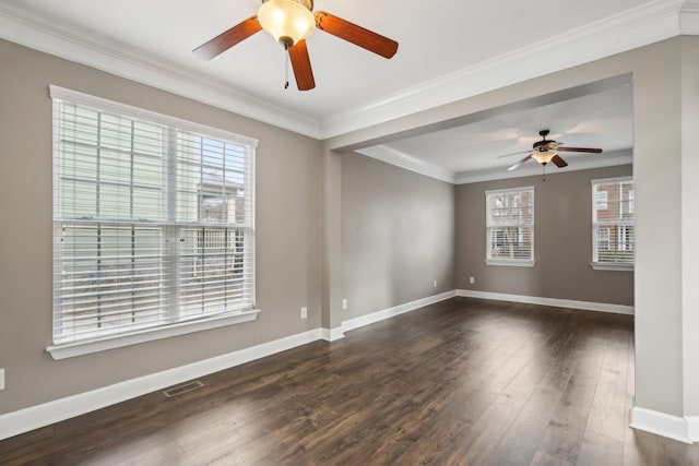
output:
[{"label": "dark hardwood plank floor running through both rooms", "polygon": [[0,464],[699,465],[628,427],[633,321],[454,298],[0,442]]}]

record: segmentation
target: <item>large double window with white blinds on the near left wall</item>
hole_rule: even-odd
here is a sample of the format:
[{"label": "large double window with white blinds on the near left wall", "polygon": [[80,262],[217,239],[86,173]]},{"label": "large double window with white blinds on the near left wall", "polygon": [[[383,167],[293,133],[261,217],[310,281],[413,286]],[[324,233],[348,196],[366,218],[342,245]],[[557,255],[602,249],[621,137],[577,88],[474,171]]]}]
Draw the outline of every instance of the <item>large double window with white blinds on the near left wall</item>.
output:
[{"label": "large double window with white blinds on the near left wall", "polygon": [[254,319],[257,142],[55,86],[51,97],[49,351]]}]

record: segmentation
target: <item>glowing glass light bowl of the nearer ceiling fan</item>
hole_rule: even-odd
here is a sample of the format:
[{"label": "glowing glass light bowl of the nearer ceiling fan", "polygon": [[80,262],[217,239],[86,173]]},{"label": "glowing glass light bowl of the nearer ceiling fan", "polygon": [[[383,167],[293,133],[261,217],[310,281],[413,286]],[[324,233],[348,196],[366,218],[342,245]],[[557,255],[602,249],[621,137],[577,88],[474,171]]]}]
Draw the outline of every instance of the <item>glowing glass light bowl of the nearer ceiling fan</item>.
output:
[{"label": "glowing glass light bowl of the nearer ceiling fan", "polygon": [[274,40],[288,48],[316,29],[311,9],[312,1],[307,0],[266,0],[258,10],[258,21]]}]

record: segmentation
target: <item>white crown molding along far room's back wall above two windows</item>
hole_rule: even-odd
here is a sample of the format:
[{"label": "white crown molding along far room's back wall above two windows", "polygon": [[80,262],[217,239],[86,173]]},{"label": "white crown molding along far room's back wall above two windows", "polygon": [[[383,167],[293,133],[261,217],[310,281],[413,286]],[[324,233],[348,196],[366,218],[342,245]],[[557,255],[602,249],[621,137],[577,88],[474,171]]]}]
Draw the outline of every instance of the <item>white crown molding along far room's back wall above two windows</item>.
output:
[{"label": "white crown molding along far room's back wall above two windows", "polygon": [[[574,157],[574,159],[573,159]],[[567,157],[570,165],[564,168],[547,167],[546,176],[565,171],[589,170],[592,168],[615,167],[617,165],[629,165],[633,163],[633,156],[630,150],[608,152],[603,155],[579,155]],[[482,181],[505,180],[510,178],[522,178],[531,176],[541,176],[542,166],[540,164],[524,165],[517,170],[507,171],[507,167],[490,168],[482,171],[469,171],[459,174],[454,184],[469,184]]]}]

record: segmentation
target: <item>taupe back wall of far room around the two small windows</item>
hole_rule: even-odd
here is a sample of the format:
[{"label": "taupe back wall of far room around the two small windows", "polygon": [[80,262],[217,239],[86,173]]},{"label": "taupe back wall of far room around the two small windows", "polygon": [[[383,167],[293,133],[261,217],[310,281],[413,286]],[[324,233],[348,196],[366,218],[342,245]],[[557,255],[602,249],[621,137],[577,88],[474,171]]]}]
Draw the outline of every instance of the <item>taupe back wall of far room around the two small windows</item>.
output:
[{"label": "taupe back wall of far room around the two small windows", "polygon": [[[633,304],[633,273],[594,271],[590,180],[631,175],[631,166],[556,172],[457,187],[457,288]],[[487,265],[485,191],[534,187],[533,267]],[[475,277],[470,285],[467,278]]]}]

